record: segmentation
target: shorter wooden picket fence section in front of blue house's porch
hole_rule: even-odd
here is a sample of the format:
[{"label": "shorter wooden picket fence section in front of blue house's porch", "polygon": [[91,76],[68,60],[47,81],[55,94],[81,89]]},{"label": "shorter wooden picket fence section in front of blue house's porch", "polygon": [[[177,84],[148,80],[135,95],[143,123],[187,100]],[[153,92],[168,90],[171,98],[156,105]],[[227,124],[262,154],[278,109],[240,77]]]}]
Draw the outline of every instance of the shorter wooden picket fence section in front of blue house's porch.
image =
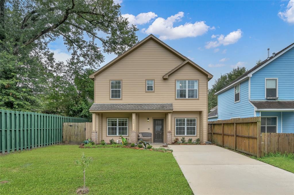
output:
[{"label": "shorter wooden picket fence section in front of blue house's porch", "polygon": [[261,156],[268,152],[294,152],[294,133],[261,133]]}]

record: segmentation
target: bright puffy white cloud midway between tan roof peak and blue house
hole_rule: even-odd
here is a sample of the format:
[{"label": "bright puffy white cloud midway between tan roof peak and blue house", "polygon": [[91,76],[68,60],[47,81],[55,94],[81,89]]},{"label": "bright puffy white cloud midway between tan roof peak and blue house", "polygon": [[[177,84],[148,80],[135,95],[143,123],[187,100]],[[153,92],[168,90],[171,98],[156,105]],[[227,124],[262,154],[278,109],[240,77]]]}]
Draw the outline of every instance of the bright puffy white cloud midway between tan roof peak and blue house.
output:
[{"label": "bright puffy white cloud midway between tan roof peak and blue house", "polygon": [[230,32],[226,36],[224,35],[215,35],[216,37],[218,36],[217,40],[215,41],[209,41],[206,43],[205,48],[210,49],[210,48],[216,48],[220,45],[230,45],[233,43],[236,43],[241,37],[242,37],[242,31],[240,29]]}]

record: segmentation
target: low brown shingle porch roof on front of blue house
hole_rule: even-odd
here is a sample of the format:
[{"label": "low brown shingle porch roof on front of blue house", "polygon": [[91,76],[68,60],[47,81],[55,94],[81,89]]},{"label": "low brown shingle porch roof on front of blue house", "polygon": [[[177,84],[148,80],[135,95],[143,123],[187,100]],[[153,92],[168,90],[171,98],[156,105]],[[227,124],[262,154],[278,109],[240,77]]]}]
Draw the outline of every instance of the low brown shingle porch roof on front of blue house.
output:
[{"label": "low brown shingle porch roof on front of blue house", "polygon": [[294,109],[294,101],[250,101],[257,109]]}]

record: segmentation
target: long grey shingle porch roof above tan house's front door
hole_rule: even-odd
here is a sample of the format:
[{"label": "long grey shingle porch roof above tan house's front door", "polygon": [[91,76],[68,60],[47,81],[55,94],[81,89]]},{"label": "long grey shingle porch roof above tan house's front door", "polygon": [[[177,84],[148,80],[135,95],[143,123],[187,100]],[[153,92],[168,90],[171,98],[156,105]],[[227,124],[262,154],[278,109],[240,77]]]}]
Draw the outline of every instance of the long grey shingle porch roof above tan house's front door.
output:
[{"label": "long grey shingle porch roof above tan house's front door", "polygon": [[173,104],[97,104],[91,110],[173,110]]}]

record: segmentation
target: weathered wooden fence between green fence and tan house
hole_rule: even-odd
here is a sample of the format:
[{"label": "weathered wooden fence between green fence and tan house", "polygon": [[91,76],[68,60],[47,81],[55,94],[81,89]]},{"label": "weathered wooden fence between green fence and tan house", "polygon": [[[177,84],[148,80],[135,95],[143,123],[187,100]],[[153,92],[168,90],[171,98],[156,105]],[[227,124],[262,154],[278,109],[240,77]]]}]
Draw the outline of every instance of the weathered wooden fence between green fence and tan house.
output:
[{"label": "weathered wooden fence between green fence and tan house", "polygon": [[62,141],[71,144],[81,143],[91,138],[92,123],[63,123]]}]

